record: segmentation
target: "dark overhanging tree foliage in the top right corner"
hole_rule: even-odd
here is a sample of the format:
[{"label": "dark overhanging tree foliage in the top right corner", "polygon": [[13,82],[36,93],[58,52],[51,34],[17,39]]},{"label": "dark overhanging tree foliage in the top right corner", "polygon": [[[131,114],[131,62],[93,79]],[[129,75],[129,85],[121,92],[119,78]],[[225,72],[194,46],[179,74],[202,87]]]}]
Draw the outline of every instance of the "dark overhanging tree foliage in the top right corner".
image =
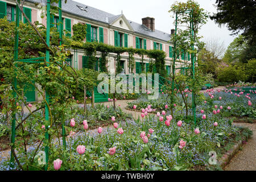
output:
[{"label": "dark overhanging tree foliage in the top right corner", "polygon": [[219,25],[226,24],[233,34],[242,31],[249,45],[256,44],[256,19],[254,0],[216,0],[217,14],[210,16]]}]

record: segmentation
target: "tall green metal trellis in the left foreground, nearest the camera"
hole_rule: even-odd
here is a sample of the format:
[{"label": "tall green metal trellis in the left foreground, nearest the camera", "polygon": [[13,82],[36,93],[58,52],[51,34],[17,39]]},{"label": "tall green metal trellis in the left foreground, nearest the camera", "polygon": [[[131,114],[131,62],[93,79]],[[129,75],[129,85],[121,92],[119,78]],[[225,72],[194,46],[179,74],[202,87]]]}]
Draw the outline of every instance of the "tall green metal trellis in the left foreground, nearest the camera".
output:
[{"label": "tall green metal trellis in the left foreground, nearest the camera", "polygon": [[[18,3],[20,3],[20,0],[18,0]],[[44,63],[44,60],[46,60],[46,65],[49,65],[49,49],[46,50],[46,57],[36,57],[32,59],[20,59],[18,60],[18,46],[19,46],[19,20],[20,20],[20,9],[18,6],[18,3],[16,4],[16,26],[15,26],[15,43],[14,43],[14,61],[15,62],[23,62],[23,63]],[[59,38],[60,43],[59,45],[62,45],[62,38],[63,38],[63,20],[62,20],[62,9],[61,9],[61,1],[59,1],[59,22],[60,22],[60,30],[59,30]],[[49,47],[49,37],[50,37],[50,9],[51,9],[51,1],[47,0],[47,27],[46,27],[46,43]],[[43,61],[39,61],[43,60]],[[14,89],[16,90],[16,74],[14,78]],[[16,98],[16,93],[13,90],[13,97]],[[14,102],[16,104],[16,101]],[[45,170],[48,169],[48,159],[49,159],[49,147],[48,147],[48,140],[49,140],[49,134],[48,134],[48,127],[49,127],[49,94],[46,91],[46,110],[45,110],[45,118],[46,118],[46,133],[45,133],[45,140],[46,146],[44,147],[44,152],[46,153],[46,165],[44,167]],[[15,144],[15,123],[16,123],[16,117],[15,112],[13,112],[13,121],[11,124],[11,159],[10,159],[10,167],[14,166],[14,144]],[[62,122],[62,135],[63,135],[63,146],[66,148],[66,142],[65,142],[65,128],[64,128],[64,119]]]}]

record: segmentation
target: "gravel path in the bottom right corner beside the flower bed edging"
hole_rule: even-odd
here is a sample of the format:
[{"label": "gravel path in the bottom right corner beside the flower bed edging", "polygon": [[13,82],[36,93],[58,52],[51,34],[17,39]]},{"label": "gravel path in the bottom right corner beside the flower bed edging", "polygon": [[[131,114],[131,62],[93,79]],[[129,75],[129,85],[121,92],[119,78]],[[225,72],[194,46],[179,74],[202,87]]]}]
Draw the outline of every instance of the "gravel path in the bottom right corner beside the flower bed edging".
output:
[{"label": "gravel path in the bottom right corner beside the flower bed edging", "polygon": [[256,171],[256,123],[234,123],[236,126],[248,127],[253,135],[238,151],[230,163],[224,168],[225,171]]}]

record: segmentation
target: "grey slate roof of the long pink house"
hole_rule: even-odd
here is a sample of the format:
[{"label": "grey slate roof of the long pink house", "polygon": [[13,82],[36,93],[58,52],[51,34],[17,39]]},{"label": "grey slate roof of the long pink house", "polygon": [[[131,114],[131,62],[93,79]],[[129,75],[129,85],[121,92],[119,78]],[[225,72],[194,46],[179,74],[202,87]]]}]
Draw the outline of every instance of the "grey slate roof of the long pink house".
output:
[{"label": "grey slate roof of the long pink house", "polygon": [[[28,1],[36,2],[36,3],[43,2],[44,5],[46,5],[46,0],[42,0],[42,1],[41,0],[28,0]],[[119,18],[119,16],[122,15],[122,14],[121,15],[113,15],[113,14],[110,14],[110,13],[106,13],[105,11],[98,10],[94,7],[87,6],[87,5],[84,5],[82,3],[72,1],[72,0],[68,0],[67,3],[65,3],[64,0],[62,0],[62,2],[63,2],[62,3],[62,10],[63,11],[65,11],[67,13],[71,13],[73,15],[81,16],[81,17],[84,17],[84,18],[92,19],[92,20],[96,20],[96,21],[102,22],[102,23],[111,24],[112,22],[114,22],[115,19]],[[81,10],[77,6],[83,7],[86,11]],[[164,41],[167,41],[167,42],[171,38],[171,35],[167,34],[166,32],[162,32],[162,31],[159,31],[159,30],[155,30],[153,32],[149,28],[147,28],[146,26],[144,26],[142,24],[132,22],[131,20],[128,20],[128,22],[130,23],[131,27],[133,27],[134,31],[137,32],[138,34],[151,36],[152,38],[164,40]]]}]

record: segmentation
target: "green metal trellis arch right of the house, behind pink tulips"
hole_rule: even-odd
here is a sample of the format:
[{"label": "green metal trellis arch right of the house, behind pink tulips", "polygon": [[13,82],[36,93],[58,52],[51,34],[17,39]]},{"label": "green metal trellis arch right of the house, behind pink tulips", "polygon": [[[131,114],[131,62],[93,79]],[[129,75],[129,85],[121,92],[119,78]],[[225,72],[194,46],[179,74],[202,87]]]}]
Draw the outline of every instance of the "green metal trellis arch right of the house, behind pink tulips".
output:
[{"label": "green metal trellis arch right of the house, behind pink tulips", "polygon": [[[189,18],[191,20],[189,29],[190,29],[190,34],[191,34],[191,40],[193,40],[193,9],[191,10],[187,10],[184,12],[176,12],[176,16],[175,16],[175,35],[177,35],[177,19],[179,18],[178,15],[182,15],[182,14],[189,14]],[[192,50],[194,50],[194,45],[193,43],[191,44],[191,48]],[[195,79],[195,59],[194,59],[195,55],[192,53],[190,56],[191,59],[191,67],[182,67],[182,68],[175,68],[175,61],[176,61],[176,40],[174,42],[174,54],[173,54],[173,66],[172,66],[172,94],[174,94],[174,78],[175,78],[175,69],[191,69],[192,71],[192,77],[193,79]],[[196,102],[195,102],[195,90],[192,90],[192,113],[193,113],[193,118],[194,118],[194,123],[196,126]]]}]

